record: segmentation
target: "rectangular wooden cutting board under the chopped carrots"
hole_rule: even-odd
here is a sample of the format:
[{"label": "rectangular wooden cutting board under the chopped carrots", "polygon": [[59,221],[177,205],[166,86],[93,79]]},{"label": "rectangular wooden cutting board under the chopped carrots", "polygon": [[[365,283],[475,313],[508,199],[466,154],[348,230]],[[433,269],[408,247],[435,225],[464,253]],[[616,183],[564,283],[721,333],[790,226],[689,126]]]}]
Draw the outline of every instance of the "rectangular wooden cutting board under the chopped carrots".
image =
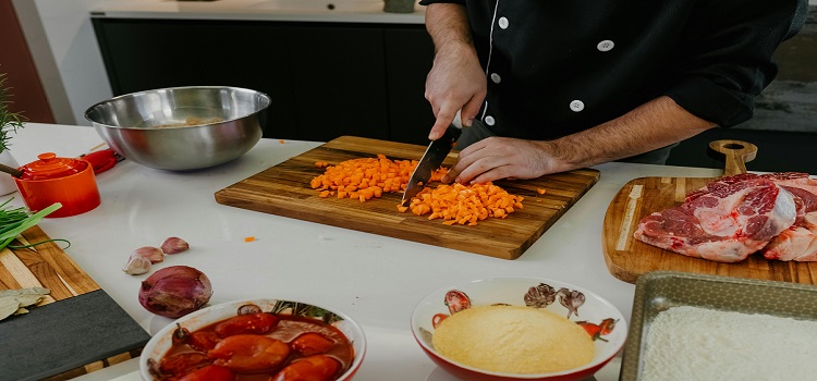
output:
[{"label": "rectangular wooden cutting board under the chopped carrots", "polygon": [[[411,212],[398,212],[402,193],[383,194],[366,202],[320,198],[309,182],[324,173],[315,162],[386,155],[392,160],[419,160],[425,147],[354,136],[342,136],[298,155],[216,193],[219,204],[332,226],[380,234],[502,259],[519,258],[599,179],[599,171],[583,169],[535,180],[498,181],[522,195],[524,209],[505,219],[488,218],[475,226],[444,225]],[[453,165],[449,155],[443,167]],[[434,183],[431,184],[434,185]],[[540,195],[537,189],[544,188]]]}]

